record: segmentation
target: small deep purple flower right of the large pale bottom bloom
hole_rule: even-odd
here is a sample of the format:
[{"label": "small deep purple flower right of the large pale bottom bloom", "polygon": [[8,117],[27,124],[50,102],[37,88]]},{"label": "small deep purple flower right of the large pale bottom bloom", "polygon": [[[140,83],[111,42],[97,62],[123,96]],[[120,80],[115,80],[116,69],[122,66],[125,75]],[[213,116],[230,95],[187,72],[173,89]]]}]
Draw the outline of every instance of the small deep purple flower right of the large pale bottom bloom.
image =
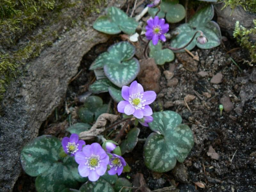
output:
[{"label": "small deep purple flower right of the large pale bottom bloom", "polygon": [[113,157],[110,159],[109,165],[110,170],[108,171],[109,175],[120,175],[123,172],[123,167],[126,165],[124,159],[116,154],[111,154]]}]

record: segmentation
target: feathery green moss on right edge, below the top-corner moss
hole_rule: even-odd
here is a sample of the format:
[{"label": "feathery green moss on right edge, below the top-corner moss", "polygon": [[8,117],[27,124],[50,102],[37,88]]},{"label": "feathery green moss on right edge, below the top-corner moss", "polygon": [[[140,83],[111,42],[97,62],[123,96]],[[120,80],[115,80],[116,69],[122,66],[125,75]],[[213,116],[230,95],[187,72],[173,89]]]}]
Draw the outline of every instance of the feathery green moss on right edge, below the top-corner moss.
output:
[{"label": "feathery green moss on right edge, below the top-corner moss", "polygon": [[243,26],[239,25],[239,21],[236,23],[236,28],[234,29],[233,36],[237,38],[239,44],[248,49],[251,57],[251,61],[245,61],[250,66],[253,66],[252,63],[256,63],[256,42],[250,41],[250,35],[256,35],[256,19],[253,20],[254,28],[246,29]]}]

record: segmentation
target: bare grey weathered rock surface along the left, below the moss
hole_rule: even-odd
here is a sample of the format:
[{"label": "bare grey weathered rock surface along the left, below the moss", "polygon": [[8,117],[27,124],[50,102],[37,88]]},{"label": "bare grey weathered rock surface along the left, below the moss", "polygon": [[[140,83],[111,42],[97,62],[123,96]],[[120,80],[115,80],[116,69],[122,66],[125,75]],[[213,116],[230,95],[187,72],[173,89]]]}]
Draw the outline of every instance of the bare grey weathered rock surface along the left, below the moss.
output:
[{"label": "bare grey weathered rock surface along the left, below the moss", "polygon": [[[89,6],[89,3],[82,5]],[[108,0],[107,3],[120,7],[125,1]],[[75,11],[82,14],[83,8]],[[72,13],[69,14],[72,19]],[[93,14],[87,18],[90,26],[97,17]],[[10,84],[0,113],[0,191],[12,191],[22,168],[20,151],[38,135],[41,123],[65,99],[69,80],[77,73],[83,55],[108,38],[92,27],[84,30],[77,25],[27,63],[23,75]]]}]

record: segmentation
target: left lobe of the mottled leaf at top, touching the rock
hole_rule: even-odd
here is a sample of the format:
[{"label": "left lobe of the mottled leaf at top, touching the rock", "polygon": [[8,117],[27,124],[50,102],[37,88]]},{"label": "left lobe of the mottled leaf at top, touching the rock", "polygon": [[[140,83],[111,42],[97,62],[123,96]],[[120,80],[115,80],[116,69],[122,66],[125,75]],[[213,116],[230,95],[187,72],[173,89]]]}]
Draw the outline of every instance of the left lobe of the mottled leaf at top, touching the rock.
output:
[{"label": "left lobe of the mottled leaf at top, touching the rock", "polygon": [[118,34],[121,32],[118,25],[114,22],[112,22],[108,16],[99,16],[94,24],[93,28],[97,31],[106,33],[106,34]]}]

